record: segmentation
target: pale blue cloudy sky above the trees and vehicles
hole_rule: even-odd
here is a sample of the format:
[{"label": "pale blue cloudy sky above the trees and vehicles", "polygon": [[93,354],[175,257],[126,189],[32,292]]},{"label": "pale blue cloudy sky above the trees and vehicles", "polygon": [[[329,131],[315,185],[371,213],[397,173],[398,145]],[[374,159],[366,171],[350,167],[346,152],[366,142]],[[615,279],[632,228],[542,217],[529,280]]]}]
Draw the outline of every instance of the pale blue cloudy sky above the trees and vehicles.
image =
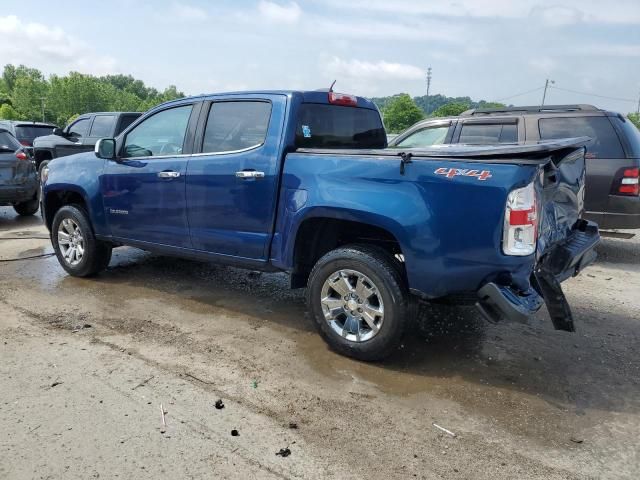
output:
[{"label": "pale blue cloudy sky above the trees and vehicles", "polygon": [[[188,94],[326,88],[635,111],[639,0],[2,0],[0,64]],[[516,94],[537,89],[531,93]],[[599,98],[603,95],[620,100]]]}]

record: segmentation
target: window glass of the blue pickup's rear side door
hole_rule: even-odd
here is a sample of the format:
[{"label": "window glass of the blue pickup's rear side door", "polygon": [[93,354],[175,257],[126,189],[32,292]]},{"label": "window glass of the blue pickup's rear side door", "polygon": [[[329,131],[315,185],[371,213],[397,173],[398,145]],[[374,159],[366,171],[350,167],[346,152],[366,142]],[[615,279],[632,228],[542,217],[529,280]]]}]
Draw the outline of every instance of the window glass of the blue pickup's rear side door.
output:
[{"label": "window glass of the blue pickup's rear side door", "polygon": [[269,102],[213,103],[207,117],[202,152],[233,152],[262,145],[270,117]]}]

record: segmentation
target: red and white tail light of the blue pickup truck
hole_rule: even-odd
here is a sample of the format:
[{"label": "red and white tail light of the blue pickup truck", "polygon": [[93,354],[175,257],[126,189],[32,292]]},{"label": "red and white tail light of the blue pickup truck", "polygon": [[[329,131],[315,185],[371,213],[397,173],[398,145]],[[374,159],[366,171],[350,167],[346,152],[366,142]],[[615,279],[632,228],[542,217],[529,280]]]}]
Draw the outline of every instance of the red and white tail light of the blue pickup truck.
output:
[{"label": "red and white tail light of the blue pickup truck", "polygon": [[536,251],[538,211],[533,183],[509,193],[504,216],[502,251],[525,256]]}]

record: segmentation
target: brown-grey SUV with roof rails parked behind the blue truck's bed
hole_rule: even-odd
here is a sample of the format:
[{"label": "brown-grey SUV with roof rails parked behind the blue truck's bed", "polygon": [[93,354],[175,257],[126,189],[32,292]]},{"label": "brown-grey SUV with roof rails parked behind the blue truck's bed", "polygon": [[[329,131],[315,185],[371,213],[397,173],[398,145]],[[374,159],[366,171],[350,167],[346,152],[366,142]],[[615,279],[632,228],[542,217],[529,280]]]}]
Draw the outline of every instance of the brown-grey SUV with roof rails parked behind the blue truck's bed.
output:
[{"label": "brown-grey SUV with roof rails parked behind the blue truck's bed", "polygon": [[423,120],[390,142],[394,148],[472,145],[587,136],[584,218],[600,228],[640,228],[640,132],[619,113],[592,105],[468,110]]}]

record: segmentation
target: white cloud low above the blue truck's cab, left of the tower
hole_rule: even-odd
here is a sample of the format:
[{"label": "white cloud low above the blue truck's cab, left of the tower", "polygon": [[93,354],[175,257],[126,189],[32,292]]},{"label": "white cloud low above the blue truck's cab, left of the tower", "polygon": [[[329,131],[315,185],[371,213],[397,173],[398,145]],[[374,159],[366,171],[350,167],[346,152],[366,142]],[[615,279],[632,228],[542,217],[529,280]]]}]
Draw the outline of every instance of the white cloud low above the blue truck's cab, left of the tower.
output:
[{"label": "white cloud low above the blue truck's cab, left of the tower", "polygon": [[335,76],[358,78],[362,80],[420,80],[425,72],[415,65],[391,63],[384,60],[366,62],[362,60],[344,60],[331,57],[325,64],[327,73]]}]

